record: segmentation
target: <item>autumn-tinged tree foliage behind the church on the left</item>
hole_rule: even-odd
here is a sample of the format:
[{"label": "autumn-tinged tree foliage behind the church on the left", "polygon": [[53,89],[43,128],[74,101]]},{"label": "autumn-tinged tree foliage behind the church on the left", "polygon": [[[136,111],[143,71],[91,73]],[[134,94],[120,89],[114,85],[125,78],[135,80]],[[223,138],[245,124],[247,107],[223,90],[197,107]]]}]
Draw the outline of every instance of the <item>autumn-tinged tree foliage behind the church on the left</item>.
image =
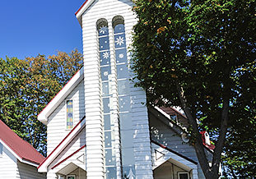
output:
[{"label": "autumn-tinged tree foliage behind the church on the left", "polygon": [[82,66],[82,55],[0,59],[0,118],[22,139],[46,155],[46,126],[37,115]]}]

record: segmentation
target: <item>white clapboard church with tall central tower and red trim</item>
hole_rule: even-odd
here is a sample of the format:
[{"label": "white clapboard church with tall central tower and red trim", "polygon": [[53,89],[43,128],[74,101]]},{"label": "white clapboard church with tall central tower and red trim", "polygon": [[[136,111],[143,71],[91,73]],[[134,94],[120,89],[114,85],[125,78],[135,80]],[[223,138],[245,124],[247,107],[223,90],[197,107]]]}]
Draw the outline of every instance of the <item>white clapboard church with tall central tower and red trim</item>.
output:
[{"label": "white clapboard church with tall central tower and red trim", "polygon": [[76,13],[84,67],[38,116],[48,135],[38,170],[47,178],[204,178],[185,117],[147,108],[130,80],[132,8],[130,0],[86,0]]}]

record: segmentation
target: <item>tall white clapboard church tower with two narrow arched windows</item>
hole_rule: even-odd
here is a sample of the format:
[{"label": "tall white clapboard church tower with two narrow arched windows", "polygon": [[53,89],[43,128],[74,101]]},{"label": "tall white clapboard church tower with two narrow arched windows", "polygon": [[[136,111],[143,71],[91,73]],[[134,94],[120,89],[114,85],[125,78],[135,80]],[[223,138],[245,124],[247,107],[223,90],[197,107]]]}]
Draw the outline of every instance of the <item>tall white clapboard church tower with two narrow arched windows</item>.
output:
[{"label": "tall white clapboard church tower with two narrow arched windows", "polygon": [[131,80],[130,0],[86,0],[82,28],[88,179],[152,178],[146,94]]}]

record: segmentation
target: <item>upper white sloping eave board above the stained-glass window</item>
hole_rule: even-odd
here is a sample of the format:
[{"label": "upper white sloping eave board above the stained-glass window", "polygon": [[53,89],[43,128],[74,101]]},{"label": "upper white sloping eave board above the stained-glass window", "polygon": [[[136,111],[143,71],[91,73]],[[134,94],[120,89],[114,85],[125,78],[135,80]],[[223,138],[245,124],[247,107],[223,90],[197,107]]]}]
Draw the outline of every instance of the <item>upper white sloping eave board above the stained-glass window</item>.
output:
[{"label": "upper white sloping eave board above the stained-glass window", "polygon": [[77,73],[72,76],[67,84],[61,89],[58,94],[52,99],[47,106],[43,109],[42,112],[37,116],[37,119],[42,122],[44,125],[47,125],[49,115],[54,112],[54,110],[58,107],[60,103],[63,102],[67,95],[72,92],[78,83],[83,79],[84,68],[82,67],[81,70],[77,71]]}]

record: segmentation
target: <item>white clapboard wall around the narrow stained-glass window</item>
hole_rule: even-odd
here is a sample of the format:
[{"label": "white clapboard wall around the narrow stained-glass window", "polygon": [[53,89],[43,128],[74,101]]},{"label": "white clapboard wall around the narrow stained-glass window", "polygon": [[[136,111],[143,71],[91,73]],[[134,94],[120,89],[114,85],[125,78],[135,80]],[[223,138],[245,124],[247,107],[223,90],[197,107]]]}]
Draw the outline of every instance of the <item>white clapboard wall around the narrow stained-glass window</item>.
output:
[{"label": "white clapboard wall around the narrow stained-glass window", "polygon": [[66,100],[73,100],[74,126],[85,115],[85,94],[83,80],[68,94],[67,98],[59,104],[58,108],[49,116],[47,125],[47,154],[49,155],[54,148],[70,132],[66,130]]}]

